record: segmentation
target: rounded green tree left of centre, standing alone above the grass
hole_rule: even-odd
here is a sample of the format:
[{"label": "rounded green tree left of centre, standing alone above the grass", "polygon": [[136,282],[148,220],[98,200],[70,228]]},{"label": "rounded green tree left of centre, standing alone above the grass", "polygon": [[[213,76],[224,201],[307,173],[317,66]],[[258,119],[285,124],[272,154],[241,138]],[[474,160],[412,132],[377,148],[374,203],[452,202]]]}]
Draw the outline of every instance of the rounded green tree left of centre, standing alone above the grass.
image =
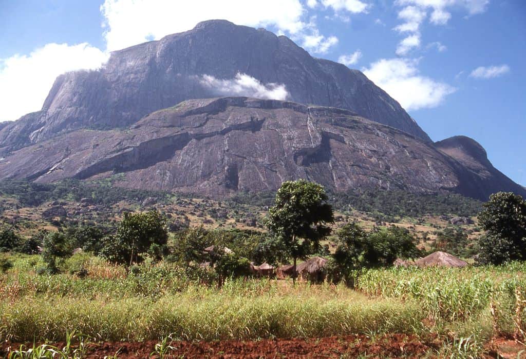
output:
[{"label": "rounded green tree left of centre, standing alone above the grass", "polygon": [[166,254],[167,240],[166,217],[157,210],[125,213],[115,236],[102,239],[100,256],[114,263],[128,265],[140,263],[146,253],[159,260]]}]

